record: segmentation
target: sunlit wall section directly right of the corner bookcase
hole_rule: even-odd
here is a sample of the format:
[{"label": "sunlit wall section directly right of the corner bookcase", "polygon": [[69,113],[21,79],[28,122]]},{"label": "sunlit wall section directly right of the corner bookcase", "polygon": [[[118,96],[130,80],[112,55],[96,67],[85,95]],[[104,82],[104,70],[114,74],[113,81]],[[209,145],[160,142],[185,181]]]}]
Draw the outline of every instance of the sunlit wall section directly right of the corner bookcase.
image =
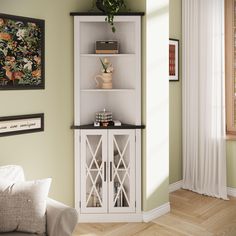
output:
[{"label": "sunlit wall section directly right of the corner bookcase", "polygon": [[[143,210],[169,201],[168,0],[130,0],[142,17]],[[158,52],[158,53],[156,53]],[[166,80],[163,80],[166,78]]]}]

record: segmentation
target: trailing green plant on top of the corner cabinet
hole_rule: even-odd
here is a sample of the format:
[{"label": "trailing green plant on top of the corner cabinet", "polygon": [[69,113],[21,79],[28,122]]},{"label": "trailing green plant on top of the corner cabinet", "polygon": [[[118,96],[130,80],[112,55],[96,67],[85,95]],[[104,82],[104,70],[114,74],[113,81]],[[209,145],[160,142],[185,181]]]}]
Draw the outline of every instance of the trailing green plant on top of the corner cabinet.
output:
[{"label": "trailing green plant on top of the corner cabinet", "polygon": [[116,28],[113,22],[114,15],[116,15],[122,8],[126,8],[124,0],[96,0],[96,6],[107,15],[105,20],[111,25],[112,32],[115,33]]}]

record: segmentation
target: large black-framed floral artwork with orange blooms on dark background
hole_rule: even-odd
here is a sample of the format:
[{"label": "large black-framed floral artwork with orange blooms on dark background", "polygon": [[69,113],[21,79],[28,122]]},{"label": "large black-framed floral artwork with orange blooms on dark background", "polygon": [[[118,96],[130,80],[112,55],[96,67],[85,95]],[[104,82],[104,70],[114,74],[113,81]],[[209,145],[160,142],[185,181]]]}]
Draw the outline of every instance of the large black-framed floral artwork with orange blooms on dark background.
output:
[{"label": "large black-framed floral artwork with orange blooms on dark background", "polygon": [[44,89],[44,20],[0,14],[0,89]]}]

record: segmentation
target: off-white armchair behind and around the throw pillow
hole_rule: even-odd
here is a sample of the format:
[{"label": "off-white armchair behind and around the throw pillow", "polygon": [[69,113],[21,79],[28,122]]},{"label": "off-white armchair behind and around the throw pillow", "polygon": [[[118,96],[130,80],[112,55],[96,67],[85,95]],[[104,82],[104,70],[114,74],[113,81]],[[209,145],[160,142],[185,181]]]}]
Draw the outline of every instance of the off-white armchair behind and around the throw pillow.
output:
[{"label": "off-white armchair behind and around the throw pillow", "polygon": [[[24,181],[24,171],[20,166],[0,167],[0,177],[10,181]],[[1,209],[0,209],[1,210]],[[74,208],[52,199],[47,200],[47,234],[46,236],[71,236],[78,221]],[[0,233],[1,236],[39,236],[20,232]],[[44,236],[44,235],[42,235]]]}]

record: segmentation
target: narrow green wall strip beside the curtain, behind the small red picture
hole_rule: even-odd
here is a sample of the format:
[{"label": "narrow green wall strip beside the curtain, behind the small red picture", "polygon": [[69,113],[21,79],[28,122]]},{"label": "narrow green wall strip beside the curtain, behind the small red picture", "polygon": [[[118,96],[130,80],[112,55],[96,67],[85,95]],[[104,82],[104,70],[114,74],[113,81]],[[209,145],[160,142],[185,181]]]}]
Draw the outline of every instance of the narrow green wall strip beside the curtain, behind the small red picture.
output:
[{"label": "narrow green wall strip beside the curtain, behind the small red picture", "polygon": [[170,183],[182,179],[181,0],[170,0],[170,38],[179,40],[179,81],[170,82]]}]

